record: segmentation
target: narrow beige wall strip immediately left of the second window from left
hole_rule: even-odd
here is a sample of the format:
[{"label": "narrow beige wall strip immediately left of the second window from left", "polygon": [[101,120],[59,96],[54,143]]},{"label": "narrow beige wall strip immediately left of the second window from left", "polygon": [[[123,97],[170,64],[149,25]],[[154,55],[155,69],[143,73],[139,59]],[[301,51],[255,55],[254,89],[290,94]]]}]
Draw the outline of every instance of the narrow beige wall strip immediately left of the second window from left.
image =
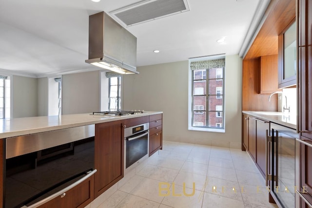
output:
[{"label": "narrow beige wall strip immediately left of the second window from left", "polygon": [[48,115],[48,78],[38,78],[38,116]]}]

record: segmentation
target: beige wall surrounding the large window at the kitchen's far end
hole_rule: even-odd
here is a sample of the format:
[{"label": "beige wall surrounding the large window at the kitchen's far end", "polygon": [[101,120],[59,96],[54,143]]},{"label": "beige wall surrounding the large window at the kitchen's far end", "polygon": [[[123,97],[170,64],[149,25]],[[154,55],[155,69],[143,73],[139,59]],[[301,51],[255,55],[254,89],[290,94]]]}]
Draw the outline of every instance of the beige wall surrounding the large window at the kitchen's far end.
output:
[{"label": "beige wall surrounding the large window at the kitchen's far end", "polygon": [[163,112],[163,139],[241,148],[241,63],[225,61],[225,133],[188,130],[188,61],[137,67],[138,75],[122,78],[124,110]]}]

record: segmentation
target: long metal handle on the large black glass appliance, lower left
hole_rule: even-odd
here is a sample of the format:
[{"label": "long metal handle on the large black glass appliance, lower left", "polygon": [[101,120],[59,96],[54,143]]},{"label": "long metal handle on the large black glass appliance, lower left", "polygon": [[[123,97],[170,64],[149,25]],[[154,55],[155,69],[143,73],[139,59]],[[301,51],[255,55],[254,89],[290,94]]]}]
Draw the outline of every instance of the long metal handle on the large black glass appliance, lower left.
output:
[{"label": "long metal handle on the large black glass appliance, lower left", "polygon": [[21,208],[37,208],[39,207],[40,205],[43,205],[44,203],[47,203],[49,201],[51,201],[52,199],[60,196],[61,198],[63,198],[65,195],[66,195],[66,191],[68,191],[69,189],[72,189],[74,187],[76,187],[78,184],[82,183],[83,181],[85,181],[86,179],[90,178],[94,173],[97,172],[97,169],[95,170],[92,170],[92,171],[89,171],[87,173],[87,175],[85,175],[84,177],[80,178],[78,181],[76,181],[75,183],[69,185],[68,187],[64,188],[64,189],[61,189],[60,191],[56,192],[55,194],[52,194],[51,196],[48,196],[47,198],[44,198],[42,199],[41,201],[35,203],[35,204],[32,204],[30,205],[29,207],[27,206],[23,206]]}]

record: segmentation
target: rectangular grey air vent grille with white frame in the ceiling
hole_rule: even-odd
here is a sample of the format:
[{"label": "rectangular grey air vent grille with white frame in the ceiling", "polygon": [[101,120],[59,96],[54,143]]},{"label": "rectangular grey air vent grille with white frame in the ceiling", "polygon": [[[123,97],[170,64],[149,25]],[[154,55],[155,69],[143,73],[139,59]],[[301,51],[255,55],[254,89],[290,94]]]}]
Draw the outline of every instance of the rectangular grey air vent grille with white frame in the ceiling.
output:
[{"label": "rectangular grey air vent grille with white frame in the ceiling", "polygon": [[126,27],[189,11],[186,0],[143,0],[110,14]]}]

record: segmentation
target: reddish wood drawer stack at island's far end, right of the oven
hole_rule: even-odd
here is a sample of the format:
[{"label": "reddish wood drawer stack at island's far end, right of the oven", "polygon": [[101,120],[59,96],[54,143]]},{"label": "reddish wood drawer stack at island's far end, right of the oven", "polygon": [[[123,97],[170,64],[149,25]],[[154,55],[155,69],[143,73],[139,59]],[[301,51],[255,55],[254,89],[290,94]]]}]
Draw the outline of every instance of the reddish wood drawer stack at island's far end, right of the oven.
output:
[{"label": "reddish wood drawer stack at island's far end, right of the oven", "polygon": [[149,156],[162,149],[162,114],[150,115]]}]

